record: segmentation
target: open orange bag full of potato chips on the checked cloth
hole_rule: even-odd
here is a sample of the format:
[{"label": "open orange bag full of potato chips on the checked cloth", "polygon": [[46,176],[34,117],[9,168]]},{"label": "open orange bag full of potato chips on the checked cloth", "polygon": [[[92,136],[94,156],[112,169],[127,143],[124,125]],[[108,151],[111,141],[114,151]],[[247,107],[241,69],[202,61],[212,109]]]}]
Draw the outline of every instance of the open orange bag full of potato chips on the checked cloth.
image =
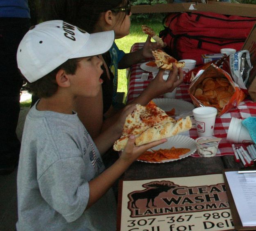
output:
[{"label": "open orange bag full of potato chips on the checked cloth", "polygon": [[246,96],[231,76],[215,64],[192,80],[188,93],[196,107],[215,107],[217,115],[236,107]]}]

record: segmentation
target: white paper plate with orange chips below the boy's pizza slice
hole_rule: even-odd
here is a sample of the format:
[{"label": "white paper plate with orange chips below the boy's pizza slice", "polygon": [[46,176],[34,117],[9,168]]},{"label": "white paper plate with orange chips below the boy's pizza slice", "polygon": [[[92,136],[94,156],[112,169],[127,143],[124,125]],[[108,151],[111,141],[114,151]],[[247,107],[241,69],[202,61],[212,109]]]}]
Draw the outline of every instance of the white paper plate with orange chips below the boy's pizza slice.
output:
[{"label": "white paper plate with orange chips below the boy's pizza slice", "polygon": [[186,158],[197,150],[195,140],[185,135],[175,135],[167,140],[147,150],[137,160],[147,163],[165,163]]}]

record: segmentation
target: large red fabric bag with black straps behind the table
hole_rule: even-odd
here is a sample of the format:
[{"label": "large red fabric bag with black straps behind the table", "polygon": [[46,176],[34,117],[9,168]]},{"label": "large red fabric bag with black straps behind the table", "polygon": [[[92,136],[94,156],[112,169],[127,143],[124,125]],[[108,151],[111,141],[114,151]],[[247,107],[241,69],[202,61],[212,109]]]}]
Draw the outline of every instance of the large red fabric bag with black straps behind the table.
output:
[{"label": "large red fabric bag with black straps behind the table", "polygon": [[159,36],[165,52],[176,58],[203,64],[202,54],[220,53],[222,48],[242,49],[256,18],[211,12],[170,13]]}]

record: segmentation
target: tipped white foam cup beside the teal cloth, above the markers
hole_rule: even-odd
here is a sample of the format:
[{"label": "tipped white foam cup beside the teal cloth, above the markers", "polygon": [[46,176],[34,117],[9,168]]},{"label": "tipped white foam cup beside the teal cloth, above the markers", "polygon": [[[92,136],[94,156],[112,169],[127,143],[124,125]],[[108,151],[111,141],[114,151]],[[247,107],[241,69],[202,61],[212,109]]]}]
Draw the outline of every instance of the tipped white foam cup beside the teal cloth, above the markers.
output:
[{"label": "tipped white foam cup beside the teal cloth, above the markers", "polygon": [[253,143],[249,131],[242,125],[242,119],[231,118],[227,140],[236,144]]}]

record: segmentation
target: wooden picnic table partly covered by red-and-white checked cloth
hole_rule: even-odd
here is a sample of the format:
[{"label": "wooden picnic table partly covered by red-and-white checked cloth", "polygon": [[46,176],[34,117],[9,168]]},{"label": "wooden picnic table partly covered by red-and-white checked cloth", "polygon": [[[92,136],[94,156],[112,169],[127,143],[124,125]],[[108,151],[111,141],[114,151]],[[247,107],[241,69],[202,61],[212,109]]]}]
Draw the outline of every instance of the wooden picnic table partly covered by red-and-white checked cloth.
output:
[{"label": "wooden picnic table partly covered by red-and-white checked cloth", "polygon": [[[131,51],[136,51],[143,46],[143,43],[135,43],[131,47]],[[147,60],[145,60],[147,61]],[[132,66],[127,71],[128,94],[127,102],[132,101],[147,87],[152,79],[152,75],[148,80],[141,80],[142,73],[146,73],[140,69],[140,64]],[[181,84],[177,89],[176,98],[191,101],[188,95],[188,85]],[[222,141],[219,145],[218,153],[215,157],[200,158],[196,153],[194,157],[187,157],[181,160],[166,162],[161,164],[151,164],[145,162],[134,162],[130,168],[122,176],[123,180],[142,180],[149,178],[165,178],[165,177],[180,177],[189,175],[202,175],[210,173],[222,173],[223,169],[243,167],[241,163],[237,163],[233,157],[231,143],[227,138],[227,131],[231,117],[247,118],[256,116],[256,103],[251,100],[245,100],[238,107],[232,109],[229,113],[225,113],[219,118],[216,118],[215,133],[217,137],[221,137]],[[189,131],[191,138],[197,138],[196,129]],[[246,146],[246,144],[236,144],[236,146]]]}]

